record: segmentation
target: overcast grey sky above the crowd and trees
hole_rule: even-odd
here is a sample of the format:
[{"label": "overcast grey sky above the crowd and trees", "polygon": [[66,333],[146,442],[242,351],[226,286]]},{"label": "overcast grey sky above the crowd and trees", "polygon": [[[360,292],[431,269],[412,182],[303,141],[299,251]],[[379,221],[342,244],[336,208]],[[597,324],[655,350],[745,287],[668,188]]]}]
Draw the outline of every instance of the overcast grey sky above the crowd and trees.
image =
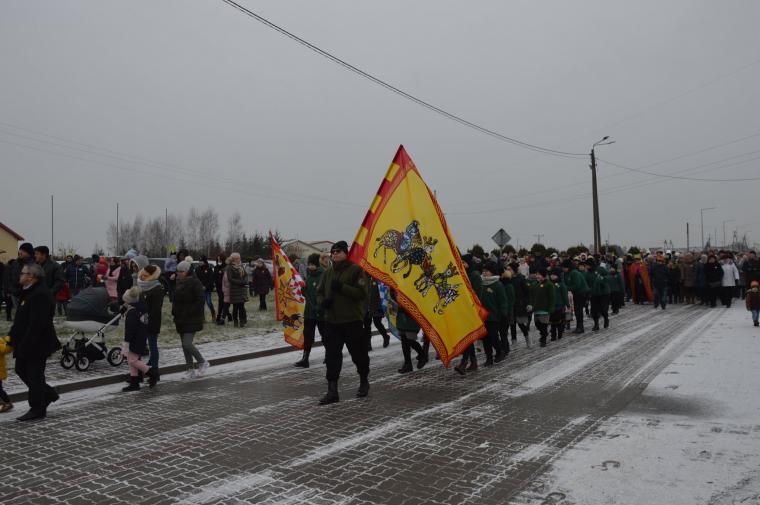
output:
[{"label": "overcast grey sky above the crowd and trees", "polygon": [[[760,176],[760,2],[240,1],[511,137],[584,153],[610,135],[598,156],[634,168],[743,138],[647,170]],[[460,246],[491,246],[499,227],[521,245],[591,241],[587,158],[464,128],[221,1],[6,0],[0,62],[0,221],[35,244],[50,241],[51,194],[56,242],[87,254],[116,201],[125,218],[211,205],[249,231],[350,241],[402,143]],[[760,181],[604,163],[599,177],[611,242],[685,245],[689,221],[697,244],[700,207],[718,207],[705,234],[735,219],[760,237]]]}]

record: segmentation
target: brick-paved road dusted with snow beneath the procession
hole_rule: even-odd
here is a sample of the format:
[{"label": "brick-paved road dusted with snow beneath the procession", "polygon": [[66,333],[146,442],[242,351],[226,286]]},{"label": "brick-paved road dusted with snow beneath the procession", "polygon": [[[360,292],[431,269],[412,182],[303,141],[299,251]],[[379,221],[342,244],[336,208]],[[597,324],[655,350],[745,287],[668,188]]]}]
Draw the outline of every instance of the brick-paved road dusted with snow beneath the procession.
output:
[{"label": "brick-paved road dusted with snow beneath the procession", "polygon": [[324,369],[286,356],[70,402],[42,423],[3,418],[0,503],[507,503],[722,313],[628,306],[608,330],[518,342],[466,378],[438,364],[400,376],[393,345],[372,354],[367,399],[346,360],[329,407]]}]

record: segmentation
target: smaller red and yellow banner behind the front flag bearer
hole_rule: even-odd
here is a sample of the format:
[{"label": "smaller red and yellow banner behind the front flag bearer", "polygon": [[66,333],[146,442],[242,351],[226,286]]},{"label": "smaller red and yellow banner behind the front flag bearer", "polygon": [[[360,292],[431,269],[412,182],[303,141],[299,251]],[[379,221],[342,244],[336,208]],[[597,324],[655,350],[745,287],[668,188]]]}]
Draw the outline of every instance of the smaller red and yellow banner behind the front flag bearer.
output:
[{"label": "smaller red and yellow banner behind the front flag bearer", "polygon": [[271,233],[269,240],[272,242],[275,317],[282,321],[285,342],[303,349],[304,282]]}]

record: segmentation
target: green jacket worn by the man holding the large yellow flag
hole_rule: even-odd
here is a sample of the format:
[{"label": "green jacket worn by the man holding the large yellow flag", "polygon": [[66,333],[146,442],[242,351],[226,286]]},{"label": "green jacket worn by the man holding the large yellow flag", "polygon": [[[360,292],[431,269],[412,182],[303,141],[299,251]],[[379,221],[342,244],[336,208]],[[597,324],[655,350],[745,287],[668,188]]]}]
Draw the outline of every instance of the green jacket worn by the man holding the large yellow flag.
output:
[{"label": "green jacket worn by the man holding the large yellow flag", "polygon": [[[333,281],[340,288],[336,292]],[[331,324],[364,321],[367,307],[367,276],[364,270],[350,261],[336,263],[322,274],[317,286],[317,302],[325,307],[325,321]]]}]

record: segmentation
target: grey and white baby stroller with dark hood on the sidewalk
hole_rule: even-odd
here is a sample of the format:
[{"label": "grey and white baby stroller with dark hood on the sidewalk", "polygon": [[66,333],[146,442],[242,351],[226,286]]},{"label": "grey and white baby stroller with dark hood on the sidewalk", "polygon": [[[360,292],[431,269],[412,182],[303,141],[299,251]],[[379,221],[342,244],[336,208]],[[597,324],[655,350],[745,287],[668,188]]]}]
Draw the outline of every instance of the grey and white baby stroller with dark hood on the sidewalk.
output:
[{"label": "grey and white baby stroller with dark hood on the sidewalk", "polygon": [[[112,310],[106,288],[87,288],[69,302],[66,312],[67,328],[74,330],[61,349],[61,366],[76,367],[80,372],[90,368],[93,361],[108,359],[113,366],[124,362],[121,347],[109,351],[105,343],[106,332],[119,325],[121,313]],[[87,337],[88,333],[94,333]]]}]

